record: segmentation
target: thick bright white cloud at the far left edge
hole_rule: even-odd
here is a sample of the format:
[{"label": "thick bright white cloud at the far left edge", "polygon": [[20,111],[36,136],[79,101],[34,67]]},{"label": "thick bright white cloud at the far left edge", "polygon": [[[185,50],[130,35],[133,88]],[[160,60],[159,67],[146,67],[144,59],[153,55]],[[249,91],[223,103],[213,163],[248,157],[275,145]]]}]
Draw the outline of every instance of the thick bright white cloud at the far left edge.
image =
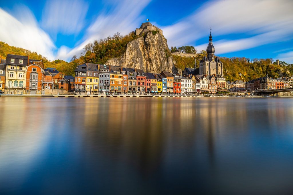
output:
[{"label": "thick bright white cloud at the far left edge", "polygon": [[38,27],[34,15],[27,7],[18,6],[15,10],[19,20],[0,8],[0,40],[53,60],[56,47],[50,36]]}]

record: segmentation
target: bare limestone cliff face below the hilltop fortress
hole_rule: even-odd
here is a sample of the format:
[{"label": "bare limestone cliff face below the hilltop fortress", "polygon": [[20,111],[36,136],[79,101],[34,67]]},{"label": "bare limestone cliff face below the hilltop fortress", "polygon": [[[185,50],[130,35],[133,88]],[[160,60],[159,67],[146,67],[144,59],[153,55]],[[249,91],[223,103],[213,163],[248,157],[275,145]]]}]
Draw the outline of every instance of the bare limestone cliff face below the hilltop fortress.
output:
[{"label": "bare limestone cliff face below the hilltop fortress", "polygon": [[175,63],[163,35],[161,33],[153,35],[149,32],[130,41],[122,57],[111,58],[105,64],[142,69],[149,73],[161,73],[161,71],[178,73]]}]

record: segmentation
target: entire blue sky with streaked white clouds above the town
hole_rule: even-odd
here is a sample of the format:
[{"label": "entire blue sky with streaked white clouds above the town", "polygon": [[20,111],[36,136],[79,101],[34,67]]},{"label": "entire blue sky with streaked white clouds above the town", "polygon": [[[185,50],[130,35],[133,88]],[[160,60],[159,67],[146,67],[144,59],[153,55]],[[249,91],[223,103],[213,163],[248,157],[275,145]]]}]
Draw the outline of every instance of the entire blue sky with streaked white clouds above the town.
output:
[{"label": "entire blue sky with streaked white clouds above the town", "polygon": [[293,63],[292,7],[292,0],[1,1],[0,41],[69,60],[88,42],[128,34],[148,18],[169,47],[205,50],[211,26],[218,56]]}]

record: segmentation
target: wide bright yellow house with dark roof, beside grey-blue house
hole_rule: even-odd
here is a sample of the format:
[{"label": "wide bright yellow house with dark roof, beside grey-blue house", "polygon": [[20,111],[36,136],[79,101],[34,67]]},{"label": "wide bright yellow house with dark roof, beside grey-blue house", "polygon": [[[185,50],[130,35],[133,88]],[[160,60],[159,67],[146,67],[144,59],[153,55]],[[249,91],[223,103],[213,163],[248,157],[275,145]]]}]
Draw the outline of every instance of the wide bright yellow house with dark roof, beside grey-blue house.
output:
[{"label": "wide bright yellow house with dark roof, beside grey-blue house", "polygon": [[86,91],[90,94],[98,94],[99,71],[98,64],[86,63]]}]

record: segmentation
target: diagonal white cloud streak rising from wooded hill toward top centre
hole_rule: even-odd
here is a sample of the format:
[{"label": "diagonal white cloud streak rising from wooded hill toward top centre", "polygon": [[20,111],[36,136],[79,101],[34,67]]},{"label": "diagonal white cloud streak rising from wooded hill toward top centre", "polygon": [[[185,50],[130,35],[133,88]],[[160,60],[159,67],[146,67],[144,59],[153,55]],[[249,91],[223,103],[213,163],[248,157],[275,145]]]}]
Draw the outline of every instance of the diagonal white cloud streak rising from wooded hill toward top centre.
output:
[{"label": "diagonal white cloud streak rising from wooded hill toward top centre", "polygon": [[105,38],[115,32],[125,35],[135,28],[139,28],[137,25],[140,25],[145,19],[140,15],[149,2],[150,0],[108,1],[108,4],[111,4],[111,9],[104,9],[100,12],[100,15],[86,30],[82,42],[79,42],[73,49],[66,46],[61,47],[57,58],[70,59],[73,55],[79,56],[84,46],[93,40]]}]

